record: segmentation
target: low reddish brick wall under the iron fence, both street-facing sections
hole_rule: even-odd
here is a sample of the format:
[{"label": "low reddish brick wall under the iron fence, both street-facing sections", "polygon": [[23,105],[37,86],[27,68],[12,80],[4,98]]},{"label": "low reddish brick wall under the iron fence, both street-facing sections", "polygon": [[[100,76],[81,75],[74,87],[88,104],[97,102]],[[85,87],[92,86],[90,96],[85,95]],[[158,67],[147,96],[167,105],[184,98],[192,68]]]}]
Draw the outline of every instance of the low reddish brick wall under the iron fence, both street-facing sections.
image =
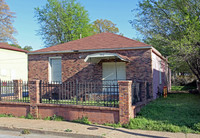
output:
[{"label": "low reddish brick wall under the iron fence, both street-facing sections", "polygon": [[[35,114],[30,110],[32,105],[29,103],[0,102],[0,114],[12,114],[16,117]],[[57,115],[69,121],[88,117],[89,121],[99,124],[119,122],[119,109],[111,107],[37,104],[37,110],[34,111],[38,111],[39,118]]]}]

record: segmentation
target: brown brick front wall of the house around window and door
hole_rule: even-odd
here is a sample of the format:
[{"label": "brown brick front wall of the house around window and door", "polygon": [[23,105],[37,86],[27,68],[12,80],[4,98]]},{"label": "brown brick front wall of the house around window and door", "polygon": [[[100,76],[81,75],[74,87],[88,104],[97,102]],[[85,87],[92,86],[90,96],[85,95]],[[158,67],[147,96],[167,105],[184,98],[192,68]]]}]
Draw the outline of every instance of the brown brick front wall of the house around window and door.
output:
[{"label": "brown brick front wall of the house around window and door", "polygon": [[[119,53],[127,56],[131,60],[126,64],[127,79],[146,80],[152,84],[151,49],[102,52]],[[102,63],[89,64],[84,62],[87,55],[94,53],[98,52],[29,55],[29,80],[48,81],[49,57],[56,56],[62,57],[62,81],[75,79],[101,80]]]}]

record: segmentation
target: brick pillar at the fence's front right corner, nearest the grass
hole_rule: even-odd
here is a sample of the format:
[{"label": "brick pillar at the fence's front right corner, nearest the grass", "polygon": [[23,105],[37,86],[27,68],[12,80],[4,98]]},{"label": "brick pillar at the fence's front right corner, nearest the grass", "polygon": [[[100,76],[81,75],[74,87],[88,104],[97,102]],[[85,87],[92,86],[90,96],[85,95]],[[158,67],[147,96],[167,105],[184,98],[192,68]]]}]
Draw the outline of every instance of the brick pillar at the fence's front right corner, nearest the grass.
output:
[{"label": "brick pillar at the fence's front right corner, nearest the grass", "polygon": [[118,81],[119,84],[119,121],[121,124],[129,123],[133,118],[132,109],[132,81]]}]

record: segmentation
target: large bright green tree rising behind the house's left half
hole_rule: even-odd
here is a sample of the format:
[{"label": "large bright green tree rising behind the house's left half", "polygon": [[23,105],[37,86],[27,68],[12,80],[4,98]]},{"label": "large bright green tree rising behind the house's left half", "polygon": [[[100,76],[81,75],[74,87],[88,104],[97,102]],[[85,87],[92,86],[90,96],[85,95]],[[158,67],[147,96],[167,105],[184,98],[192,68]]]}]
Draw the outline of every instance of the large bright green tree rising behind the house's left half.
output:
[{"label": "large bright green tree rising behind the house's left half", "polygon": [[69,42],[91,35],[88,12],[75,0],[47,0],[42,8],[35,8],[41,29],[38,33],[46,46]]}]

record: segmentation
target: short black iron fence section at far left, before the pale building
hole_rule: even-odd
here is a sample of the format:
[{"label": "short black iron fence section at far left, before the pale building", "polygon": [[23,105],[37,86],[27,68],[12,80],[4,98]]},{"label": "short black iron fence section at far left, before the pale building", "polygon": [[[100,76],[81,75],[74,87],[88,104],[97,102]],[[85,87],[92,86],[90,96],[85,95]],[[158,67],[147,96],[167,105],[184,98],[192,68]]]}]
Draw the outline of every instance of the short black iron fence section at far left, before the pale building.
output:
[{"label": "short black iron fence section at far left, before the pale building", "polygon": [[28,82],[0,80],[0,101],[29,103]]}]

